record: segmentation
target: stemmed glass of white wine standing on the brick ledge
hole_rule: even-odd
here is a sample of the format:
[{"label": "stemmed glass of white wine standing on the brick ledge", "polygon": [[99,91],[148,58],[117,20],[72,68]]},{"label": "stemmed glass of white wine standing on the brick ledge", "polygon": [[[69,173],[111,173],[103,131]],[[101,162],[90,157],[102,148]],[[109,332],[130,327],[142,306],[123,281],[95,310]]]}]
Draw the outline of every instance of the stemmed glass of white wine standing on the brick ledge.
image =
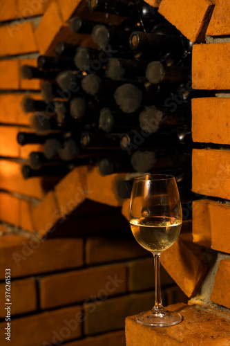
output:
[{"label": "stemmed glass of white wine standing on the brick ledge", "polygon": [[136,241],[153,253],[155,265],[155,304],[150,311],[139,313],[137,322],[151,327],[176,325],[182,316],[164,309],[160,289],[160,254],[173,245],[182,226],[175,177],[163,174],[138,176],[133,183],[129,221]]}]

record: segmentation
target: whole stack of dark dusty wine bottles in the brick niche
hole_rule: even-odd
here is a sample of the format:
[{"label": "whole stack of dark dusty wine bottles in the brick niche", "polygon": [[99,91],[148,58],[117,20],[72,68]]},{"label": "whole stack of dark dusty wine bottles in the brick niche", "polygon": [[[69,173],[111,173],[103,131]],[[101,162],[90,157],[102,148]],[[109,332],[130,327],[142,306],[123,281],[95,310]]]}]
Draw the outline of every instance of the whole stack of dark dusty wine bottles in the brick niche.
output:
[{"label": "whole stack of dark dusty wine bottles in the brick niche", "polygon": [[22,102],[35,133],[19,133],[18,142],[44,145],[44,152],[30,153],[23,176],[64,176],[88,164],[103,175],[130,173],[117,183],[122,198],[137,172],[168,172],[188,188],[191,98],[198,96],[191,89],[191,42],[142,0],[92,0],[88,11],[119,19],[117,25],[70,19],[69,28],[90,34],[98,49],[59,42],[56,57],[22,66],[23,78],[44,80],[43,100]]}]

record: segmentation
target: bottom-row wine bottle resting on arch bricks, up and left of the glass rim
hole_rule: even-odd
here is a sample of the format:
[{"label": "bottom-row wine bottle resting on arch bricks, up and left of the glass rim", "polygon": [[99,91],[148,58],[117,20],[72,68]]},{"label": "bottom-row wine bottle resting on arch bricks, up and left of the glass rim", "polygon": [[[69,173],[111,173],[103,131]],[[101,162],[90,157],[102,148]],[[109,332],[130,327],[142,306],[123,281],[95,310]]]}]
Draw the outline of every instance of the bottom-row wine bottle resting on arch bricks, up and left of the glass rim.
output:
[{"label": "bottom-row wine bottle resting on arch bricks, up and left of the glass rim", "polygon": [[98,167],[102,175],[131,172],[133,170],[130,159],[126,156],[104,157],[99,161]]}]

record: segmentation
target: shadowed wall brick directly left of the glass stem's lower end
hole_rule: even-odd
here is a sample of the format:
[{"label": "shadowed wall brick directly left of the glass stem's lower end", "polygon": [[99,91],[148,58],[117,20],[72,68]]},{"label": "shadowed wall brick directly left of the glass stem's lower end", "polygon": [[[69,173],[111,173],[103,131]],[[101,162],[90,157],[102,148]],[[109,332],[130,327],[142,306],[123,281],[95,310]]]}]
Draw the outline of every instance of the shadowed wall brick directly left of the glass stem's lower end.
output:
[{"label": "shadowed wall brick directly left of the glass stem's lower end", "polygon": [[145,292],[110,298],[99,304],[97,302],[84,304],[86,316],[84,332],[86,335],[91,335],[124,328],[124,320],[133,313],[131,311],[138,313],[151,309],[153,302],[153,292]]}]

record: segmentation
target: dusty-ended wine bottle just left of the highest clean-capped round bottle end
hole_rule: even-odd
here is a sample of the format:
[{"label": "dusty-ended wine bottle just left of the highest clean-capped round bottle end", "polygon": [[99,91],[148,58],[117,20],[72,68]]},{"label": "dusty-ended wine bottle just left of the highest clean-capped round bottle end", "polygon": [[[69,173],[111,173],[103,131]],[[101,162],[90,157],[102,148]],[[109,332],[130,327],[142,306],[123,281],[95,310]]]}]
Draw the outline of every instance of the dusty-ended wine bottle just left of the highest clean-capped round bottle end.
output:
[{"label": "dusty-ended wine bottle just left of the highest clean-capped round bottle end", "polygon": [[128,50],[128,40],[131,35],[130,30],[120,30],[117,28],[106,28],[102,24],[93,27],[92,38],[100,48]]}]

